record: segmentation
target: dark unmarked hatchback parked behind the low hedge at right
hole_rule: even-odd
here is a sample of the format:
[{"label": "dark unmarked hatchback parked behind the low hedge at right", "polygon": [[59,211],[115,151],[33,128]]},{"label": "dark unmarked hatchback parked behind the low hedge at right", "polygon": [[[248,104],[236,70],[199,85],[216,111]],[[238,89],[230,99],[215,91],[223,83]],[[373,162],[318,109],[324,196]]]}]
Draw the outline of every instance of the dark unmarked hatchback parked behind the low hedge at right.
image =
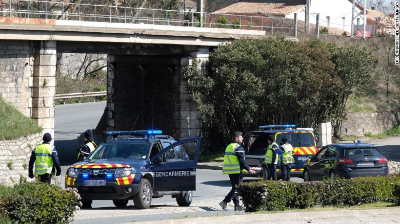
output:
[{"label": "dark unmarked hatchback parked behind the low hedge at right", "polygon": [[307,162],[304,181],[324,177],[386,176],[389,168],[386,158],[371,144],[332,144],[322,147]]}]

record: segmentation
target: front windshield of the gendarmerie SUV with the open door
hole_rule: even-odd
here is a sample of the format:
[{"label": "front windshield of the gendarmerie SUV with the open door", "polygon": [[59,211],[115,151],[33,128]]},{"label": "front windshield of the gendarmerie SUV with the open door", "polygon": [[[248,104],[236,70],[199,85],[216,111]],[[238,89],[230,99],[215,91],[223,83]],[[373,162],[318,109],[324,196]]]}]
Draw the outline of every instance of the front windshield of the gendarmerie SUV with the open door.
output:
[{"label": "front windshield of the gendarmerie SUV with the open door", "polygon": [[89,156],[89,159],[144,160],[147,158],[148,154],[149,143],[129,141],[113,142],[99,146]]}]

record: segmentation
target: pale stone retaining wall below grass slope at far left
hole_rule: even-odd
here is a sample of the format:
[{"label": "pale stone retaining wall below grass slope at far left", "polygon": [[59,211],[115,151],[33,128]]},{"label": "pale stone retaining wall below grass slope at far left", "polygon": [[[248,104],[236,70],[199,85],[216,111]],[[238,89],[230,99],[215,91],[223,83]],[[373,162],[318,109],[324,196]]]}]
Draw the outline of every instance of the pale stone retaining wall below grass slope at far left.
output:
[{"label": "pale stone retaining wall below grass slope at far left", "polygon": [[42,133],[0,141],[0,184],[13,185],[23,175],[28,178],[28,163],[33,148],[42,143]]}]

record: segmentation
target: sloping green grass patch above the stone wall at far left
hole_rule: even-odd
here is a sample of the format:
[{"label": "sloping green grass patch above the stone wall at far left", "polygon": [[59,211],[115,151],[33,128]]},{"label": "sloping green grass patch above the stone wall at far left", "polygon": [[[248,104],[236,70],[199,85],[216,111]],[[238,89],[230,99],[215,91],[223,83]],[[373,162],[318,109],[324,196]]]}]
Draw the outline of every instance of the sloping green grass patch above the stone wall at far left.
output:
[{"label": "sloping green grass patch above the stone wall at far left", "polygon": [[39,133],[42,128],[31,118],[25,117],[14,106],[0,98],[0,141]]}]

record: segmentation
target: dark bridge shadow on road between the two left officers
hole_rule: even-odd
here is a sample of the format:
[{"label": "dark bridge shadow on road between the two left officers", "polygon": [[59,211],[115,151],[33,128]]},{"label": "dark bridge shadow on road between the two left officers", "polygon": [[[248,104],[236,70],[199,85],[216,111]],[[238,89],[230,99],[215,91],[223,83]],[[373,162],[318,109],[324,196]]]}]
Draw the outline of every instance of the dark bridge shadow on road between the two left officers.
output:
[{"label": "dark bridge shadow on road between the two left officers", "polygon": [[62,166],[74,164],[78,155],[76,148],[76,140],[57,140],[54,141],[57,150],[59,162]]}]

